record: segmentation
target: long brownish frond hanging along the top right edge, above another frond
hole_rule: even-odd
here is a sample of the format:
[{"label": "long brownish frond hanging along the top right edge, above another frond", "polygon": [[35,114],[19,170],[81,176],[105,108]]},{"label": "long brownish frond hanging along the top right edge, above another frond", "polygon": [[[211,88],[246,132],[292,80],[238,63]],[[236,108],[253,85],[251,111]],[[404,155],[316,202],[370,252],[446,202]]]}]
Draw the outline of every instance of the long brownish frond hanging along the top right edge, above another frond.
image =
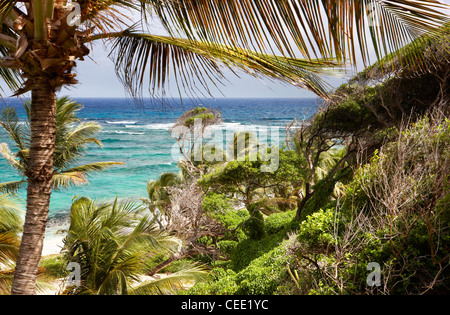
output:
[{"label": "long brownish frond hanging along the top right edge, above another frond", "polygon": [[290,57],[362,56],[366,63],[372,49],[394,52],[449,20],[442,12],[448,6],[437,0],[149,2],[174,35]]}]

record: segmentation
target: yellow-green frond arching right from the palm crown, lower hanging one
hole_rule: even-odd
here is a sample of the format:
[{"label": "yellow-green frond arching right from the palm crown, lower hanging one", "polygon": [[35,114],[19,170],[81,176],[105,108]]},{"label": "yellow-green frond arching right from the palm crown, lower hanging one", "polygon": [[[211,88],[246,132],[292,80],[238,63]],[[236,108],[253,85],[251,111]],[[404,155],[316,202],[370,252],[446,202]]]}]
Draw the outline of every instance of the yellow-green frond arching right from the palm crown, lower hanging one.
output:
[{"label": "yellow-green frond arching right from the palm crown, lower hanging one", "polygon": [[140,95],[149,84],[152,95],[164,96],[165,86],[172,76],[178,92],[188,95],[211,93],[225,80],[226,68],[238,76],[236,70],[257,78],[270,78],[307,88],[326,96],[329,86],[320,74],[329,73],[337,64],[331,59],[299,60],[268,55],[232,46],[193,41],[169,36],[142,34],[133,30],[92,36],[91,40],[114,38],[111,58],[119,79],[133,95]]}]

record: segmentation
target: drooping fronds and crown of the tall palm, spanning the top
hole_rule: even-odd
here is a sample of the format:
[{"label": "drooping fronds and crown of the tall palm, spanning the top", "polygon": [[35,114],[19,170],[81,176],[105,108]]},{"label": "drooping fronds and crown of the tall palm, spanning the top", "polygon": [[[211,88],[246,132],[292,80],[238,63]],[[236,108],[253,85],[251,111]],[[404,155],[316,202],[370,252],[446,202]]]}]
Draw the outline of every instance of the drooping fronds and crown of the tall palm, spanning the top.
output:
[{"label": "drooping fronds and crown of the tall palm, spanning the top", "polygon": [[[0,8],[6,56],[1,69],[27,65],[27,77],[39,68],[59,68],[55,86],[74,84],[75,59],[89,53],[87,42],[102,39],[113,42],[117,73],[134,95],[144,84],[144,73],[152,93],[164,89],[169,75],[180,89],[195,90],[195,85],[207,88],[207,81],[214,85],[223,80],[220,67],[225,65],[324,96],[317,74],[335,65],[333,60],[356,62],[362,56],[368,63],[371,50],[381,57],[448,21],[442,13],[447,7],[436,0],[109,0],[77,1],[81,24],[71,27],[67,18],[72,7],[62,1],[47,1],[45,8],[40,1],[19,2],[3,1]],[[33,10],[38,12],[31,20]],[[125,10],[144,18],[133,24]],[[173,37],[144,32],[150,16]],[[44,36],[55,45],[45,48],[29,41],[31,30],[36,40]],[[5,73],[4,79],[14,82],[11,75]],[[28,81],[19,92],[31,88]]]}]

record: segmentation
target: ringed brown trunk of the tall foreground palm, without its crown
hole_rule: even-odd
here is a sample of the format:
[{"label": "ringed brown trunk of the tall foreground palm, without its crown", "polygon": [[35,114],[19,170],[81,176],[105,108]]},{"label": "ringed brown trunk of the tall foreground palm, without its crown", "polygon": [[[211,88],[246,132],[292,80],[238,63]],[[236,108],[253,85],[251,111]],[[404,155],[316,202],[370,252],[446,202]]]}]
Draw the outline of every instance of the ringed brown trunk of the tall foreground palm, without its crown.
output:
[{"label": "ringed brown trunk of the tall foreground palm, without its crown", "polygon": [[27,213],[11,294],[34,295],[52,192],[56,96],[48,78],[36,78],[31,99]]}]

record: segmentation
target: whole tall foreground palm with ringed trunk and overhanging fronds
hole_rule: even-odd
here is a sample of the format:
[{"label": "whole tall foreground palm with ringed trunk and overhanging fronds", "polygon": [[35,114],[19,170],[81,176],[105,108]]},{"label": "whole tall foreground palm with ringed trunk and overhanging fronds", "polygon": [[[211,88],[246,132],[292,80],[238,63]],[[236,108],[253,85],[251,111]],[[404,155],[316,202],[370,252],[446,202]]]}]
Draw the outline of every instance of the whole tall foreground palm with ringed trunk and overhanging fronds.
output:
[{"label": "whole tall foreground palm with ringed trunk and overhanging fronds", "polygon": [[[323,96],[318,74],[335,65],[330,58],[367,61],[373,47],[377,55],[395,51],[441,25],[443,7],[437,0],[1,1],[0,75],[20,85],[16,95],[31,91],[27,215],[12,293],[34,292],[53,187],[56,91],[77,83],[73,69],[89,43],[113,43],[116,71],[133,95],[148,82],[164,96],[170,74],[180,90],[208,89],[224,78],[223,65]],[[123,10],[140,13],[141,22]],[[150,16],[169,36],[143,31]]]}]

